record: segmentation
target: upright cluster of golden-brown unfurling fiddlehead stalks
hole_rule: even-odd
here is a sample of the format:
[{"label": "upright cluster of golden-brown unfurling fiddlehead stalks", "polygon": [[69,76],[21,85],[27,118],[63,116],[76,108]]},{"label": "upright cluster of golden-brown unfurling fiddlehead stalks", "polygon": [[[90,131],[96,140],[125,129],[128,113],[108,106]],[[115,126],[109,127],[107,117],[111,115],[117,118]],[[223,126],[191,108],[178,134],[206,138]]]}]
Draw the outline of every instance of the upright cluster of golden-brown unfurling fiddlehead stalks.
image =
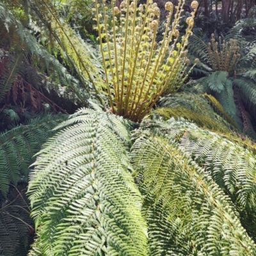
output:
[{"label": "upright cluster of golden-brown unfurling fiddlehead stalks", "polygon": [[[95,0],[96,29],[99,32],[109,106],[116,115],[141,122],[161,94],[177,92],[188,76],[186,46],[198,3],[193,1],[191,4],[195,10],[186,20],[188,28],[181,42],[178,42],[177,28],[184,3],[184,0],[179,0],[175,7],[170,2],[165,4],[169,13],[163,40],[158,44],[156,35],[160,10],[152,0],[140,6],[137,0],[131,3],[125,0],[120,10],[111,1],[111,24],[105,1],[99,4]],[[102,10],[100,6],[103,6]]]}]

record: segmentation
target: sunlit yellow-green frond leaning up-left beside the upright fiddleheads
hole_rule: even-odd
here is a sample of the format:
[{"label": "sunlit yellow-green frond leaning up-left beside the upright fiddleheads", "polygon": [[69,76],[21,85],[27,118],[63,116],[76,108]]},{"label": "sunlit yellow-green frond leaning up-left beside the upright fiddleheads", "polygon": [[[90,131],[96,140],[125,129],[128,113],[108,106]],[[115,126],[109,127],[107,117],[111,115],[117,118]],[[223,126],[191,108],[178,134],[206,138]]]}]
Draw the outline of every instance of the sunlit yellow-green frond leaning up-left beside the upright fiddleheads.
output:
[{"label": "sunlit yellow-green frond leaning up-left beside the upright fiddleheads", "polygon": [[[101,76],[101,66],[93,56],[93,50],[61,19],[51,0],[29,1],[29,5],[29,13],[33,17],[37,17],[36,25],[42,28],[42,33],[50,38],[50,43],[44,43],[54,54],[60,54],[68,68],[73,70],[83,85],[83,91],[87,94],[87,98],[89,94],[104,106],[102,100],[104,95],[100,95],[100,93],[105,84]],[[86,106],[81,90],[76,87],[72,87],[72,90]]]}]

